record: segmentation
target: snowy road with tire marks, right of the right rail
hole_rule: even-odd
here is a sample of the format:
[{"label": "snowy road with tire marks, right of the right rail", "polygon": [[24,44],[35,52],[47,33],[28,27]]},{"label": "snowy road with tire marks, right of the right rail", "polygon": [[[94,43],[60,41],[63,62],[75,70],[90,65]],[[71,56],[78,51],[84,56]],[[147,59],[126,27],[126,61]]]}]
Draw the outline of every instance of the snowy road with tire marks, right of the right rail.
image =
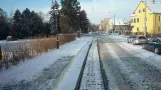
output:
[{"label": "snowy road with tire marks, right of the right rail", "polygon": [[99,46],[109,90],[161,90],[161,55],[123,36],[101,36]]}]

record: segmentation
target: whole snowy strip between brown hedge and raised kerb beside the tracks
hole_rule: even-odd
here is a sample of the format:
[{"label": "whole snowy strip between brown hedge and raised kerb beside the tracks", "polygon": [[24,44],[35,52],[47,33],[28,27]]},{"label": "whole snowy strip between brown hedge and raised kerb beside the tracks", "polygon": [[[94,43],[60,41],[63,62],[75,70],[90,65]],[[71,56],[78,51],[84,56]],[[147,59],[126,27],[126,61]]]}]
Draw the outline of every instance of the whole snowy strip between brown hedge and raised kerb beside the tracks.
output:
[{"label": "whole snowy strip between brown hedge and raised kerb beside the tracks", "polygon": [[52,89],[64,68],[91,40],[91,37],[83,37],[62,45],[58,50],[52,50],[0,71],[0,90],[2,87],[5,90]]}]

